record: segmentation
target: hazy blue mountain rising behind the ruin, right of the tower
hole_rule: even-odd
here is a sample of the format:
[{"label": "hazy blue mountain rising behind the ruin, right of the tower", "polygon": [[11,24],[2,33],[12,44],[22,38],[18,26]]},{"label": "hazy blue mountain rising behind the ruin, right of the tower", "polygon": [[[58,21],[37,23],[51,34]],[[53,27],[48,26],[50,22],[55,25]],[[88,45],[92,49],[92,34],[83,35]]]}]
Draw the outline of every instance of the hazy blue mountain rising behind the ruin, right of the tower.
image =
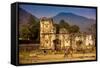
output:
[{"label": "hazy blue mountain rising behind the ruin, right of the tower", "polygon": [[80,31],[87,32],[87,28],[89,28],[92,24],[96,23],[94,19],[88,19],[83,16],[76,15],[74,13],[59,13],[53,17],[54,22],[59,23],[60,20],[65,20],[70,25],[78,25],[80,27]]}]

